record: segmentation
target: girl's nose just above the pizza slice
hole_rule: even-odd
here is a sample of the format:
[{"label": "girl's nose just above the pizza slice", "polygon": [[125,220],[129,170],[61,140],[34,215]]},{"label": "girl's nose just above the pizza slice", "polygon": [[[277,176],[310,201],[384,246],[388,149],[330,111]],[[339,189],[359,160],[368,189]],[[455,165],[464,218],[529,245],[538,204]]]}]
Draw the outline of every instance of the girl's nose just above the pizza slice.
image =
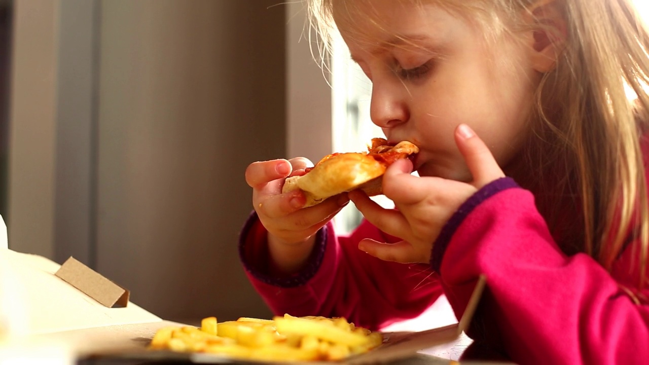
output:
[{"label": "girl's nose just above the pizza slice", "polygon": [[408,120],[408,108],[399,93],[401,87],[373,84],[370,118],[374,124],[391,128]]}]

